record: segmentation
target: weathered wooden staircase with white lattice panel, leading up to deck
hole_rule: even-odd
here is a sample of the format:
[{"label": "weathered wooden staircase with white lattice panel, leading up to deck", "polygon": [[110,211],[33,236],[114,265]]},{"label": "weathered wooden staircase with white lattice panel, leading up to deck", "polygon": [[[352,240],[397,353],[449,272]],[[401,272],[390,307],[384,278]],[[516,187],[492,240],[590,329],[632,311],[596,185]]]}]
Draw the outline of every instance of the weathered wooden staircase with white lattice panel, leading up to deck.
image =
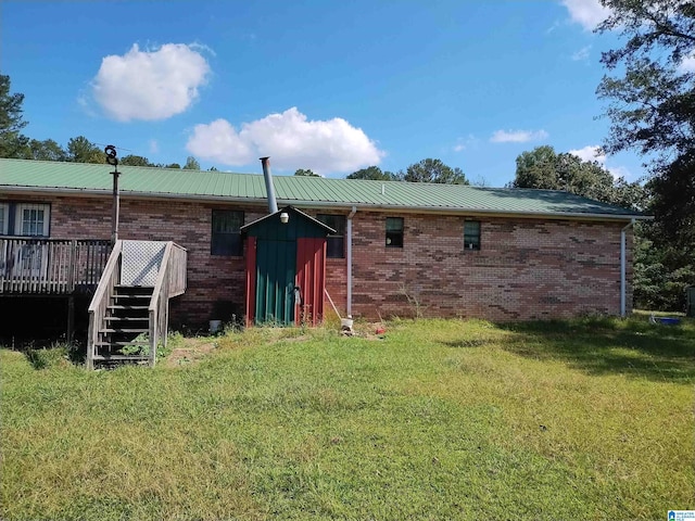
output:
[{"label": "weathered wooden staircase with white lattice panel, leading up to deck", "polygon": [[173,242],[116,241],[89,305],[89,369],[154,366],[157,347],[166,345],[168,301],[186,291],[186,260]]}]

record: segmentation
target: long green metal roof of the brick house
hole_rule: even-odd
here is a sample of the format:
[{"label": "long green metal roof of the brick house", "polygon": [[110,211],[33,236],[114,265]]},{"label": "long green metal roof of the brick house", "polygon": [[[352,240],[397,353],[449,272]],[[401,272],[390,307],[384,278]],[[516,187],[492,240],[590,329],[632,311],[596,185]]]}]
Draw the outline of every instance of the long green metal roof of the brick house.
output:
[{"label": "long green metal roof of the brick house", "polygon": [[[3,191],[111,193],[109,165],[0,160]],[[118,166],[121,193],[155,198],[185,198],[266,202],[263,175]],[[557,190],[480,188],[403,181],[369,181],[323,177],[275,176],[278,205],[332,206],[493,213],[607,219],[646,218],[644,214]]]}]

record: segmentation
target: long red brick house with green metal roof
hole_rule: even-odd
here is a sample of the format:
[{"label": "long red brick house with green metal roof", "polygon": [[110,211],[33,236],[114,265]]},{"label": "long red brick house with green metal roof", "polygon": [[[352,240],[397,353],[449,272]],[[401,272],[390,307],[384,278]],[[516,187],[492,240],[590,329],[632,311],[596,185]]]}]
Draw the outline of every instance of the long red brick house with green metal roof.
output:
[{"label": "long red brick house with green metal roof", "polygon": [[[112,169],[0,160],[0,242],[108,241]],[[172,301],[173,321],[241,318],[248,241],[240,228],[268,214],[263,176],[119,171],[119,238],[187,251],[187,289]],[[274,183],[279,206],[336,230],[325,280],[341,315],[525,320],[631,310],[630,225],[641,214],[547,190],[280,176]],[[12,292],[4,262],[0,298]]]}]

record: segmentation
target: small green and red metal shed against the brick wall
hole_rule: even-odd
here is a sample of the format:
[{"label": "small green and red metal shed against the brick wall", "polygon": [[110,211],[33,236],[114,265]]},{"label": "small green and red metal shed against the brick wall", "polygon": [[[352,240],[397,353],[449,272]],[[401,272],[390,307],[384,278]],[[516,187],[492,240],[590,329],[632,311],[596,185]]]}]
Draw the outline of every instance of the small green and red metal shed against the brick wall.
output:
[{"label": "small green and red metal shed against the brick wall", "polygon": [[247,325],[324,318],[330,227],[287,206],[241,228],[247,240]]}]

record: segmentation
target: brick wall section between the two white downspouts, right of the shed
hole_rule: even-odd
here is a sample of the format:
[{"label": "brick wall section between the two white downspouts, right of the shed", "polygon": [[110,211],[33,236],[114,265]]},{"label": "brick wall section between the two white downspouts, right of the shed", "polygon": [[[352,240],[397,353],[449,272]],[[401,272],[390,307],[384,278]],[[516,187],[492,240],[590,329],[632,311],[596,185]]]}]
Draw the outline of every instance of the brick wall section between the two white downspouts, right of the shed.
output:
[{"label": "brick wall section between the two white downspouts, right of the shed", "polygon": [[620,312],[622,224],[480,218],[481,249],[464,251],[464,217],[402,217],[402,249],[386,246],[383,214],[353,219],[355,315],[407,316],[418,305],[425,316],[492,320]]}]

